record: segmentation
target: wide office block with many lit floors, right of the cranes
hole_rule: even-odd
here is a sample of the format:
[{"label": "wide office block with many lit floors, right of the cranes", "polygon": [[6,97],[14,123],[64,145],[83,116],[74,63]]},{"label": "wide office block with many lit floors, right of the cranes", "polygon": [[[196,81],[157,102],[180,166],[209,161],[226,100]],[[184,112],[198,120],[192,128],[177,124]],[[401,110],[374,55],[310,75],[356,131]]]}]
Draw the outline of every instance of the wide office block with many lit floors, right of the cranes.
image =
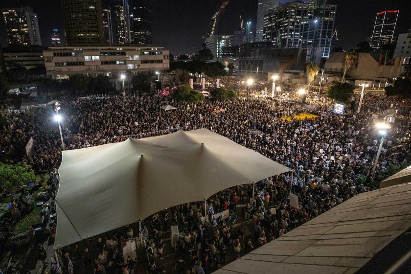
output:
[{"label": "wide office block with many lit floors, right of the cranes", "polygon": [[[264,17],[263,41],[278,47],[313,48],[311,55],[328,58],[336,16],[336,5],[326,1],[289,2]],[[313,51],[320,50],[320,53]]]}]

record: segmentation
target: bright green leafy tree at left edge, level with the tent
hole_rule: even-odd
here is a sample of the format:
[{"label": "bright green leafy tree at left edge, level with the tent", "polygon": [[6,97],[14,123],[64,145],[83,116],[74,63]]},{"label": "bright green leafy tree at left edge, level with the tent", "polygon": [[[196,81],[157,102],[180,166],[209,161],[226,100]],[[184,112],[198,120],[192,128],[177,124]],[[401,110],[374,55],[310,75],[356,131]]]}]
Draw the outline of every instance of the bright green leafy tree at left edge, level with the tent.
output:
[{"label": "bright green leafy tree at left edge, level with the tent", "polygon": [[31,183],[36,179],[31,166],[18,164],[5,164],[0,162],[0,187],[10,192],[13,196],[13,190],[21,187],[21,184]]}]

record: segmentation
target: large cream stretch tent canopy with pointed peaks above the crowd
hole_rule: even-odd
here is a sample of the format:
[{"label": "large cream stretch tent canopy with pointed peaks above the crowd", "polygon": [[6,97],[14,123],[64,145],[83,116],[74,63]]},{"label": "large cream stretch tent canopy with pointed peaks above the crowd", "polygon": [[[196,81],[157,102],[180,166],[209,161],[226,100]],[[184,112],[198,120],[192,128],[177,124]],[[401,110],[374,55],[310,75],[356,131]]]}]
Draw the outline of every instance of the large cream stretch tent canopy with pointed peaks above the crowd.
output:
[{"label": "large cream stretch tent canopy with pointed peaks above the crowd", "polygon": [[207,129],[63,151],[54,247],[288,171]]}]

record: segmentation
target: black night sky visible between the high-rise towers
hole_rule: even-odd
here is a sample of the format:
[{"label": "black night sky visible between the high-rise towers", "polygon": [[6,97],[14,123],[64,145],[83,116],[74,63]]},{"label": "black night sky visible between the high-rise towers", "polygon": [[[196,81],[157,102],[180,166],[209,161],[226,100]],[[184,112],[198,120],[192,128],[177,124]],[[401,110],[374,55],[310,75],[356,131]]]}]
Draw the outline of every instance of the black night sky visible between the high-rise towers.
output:
[{"label": "black night sky visible between the high-rise towers", "polygon": [[[114,0],[102,0],[103,6]],[[152,0],[153,42],[164,46],[175,55],[197,52],[201,49],[211,16],[220,0]],[[399,9],[396,27],[398,33],[411,28],[411,0],[328,0],[337,4],[336,28],[338,41],[332,46],[344,49],[354,47],[371,36],[376,13]],[[50,45],[52,28],[64,29],[60,0],[0,0],[0,7],[29,5],[37,13],[43,45]],[[231,0],[224,16],[224,34],[240,29],[240,15],[244,22],[251,17],[255,27],[257,0]],[[2,22],[2,21],[1,21]],[[1,26],[1,44],[5,46],[4,27]]]}]

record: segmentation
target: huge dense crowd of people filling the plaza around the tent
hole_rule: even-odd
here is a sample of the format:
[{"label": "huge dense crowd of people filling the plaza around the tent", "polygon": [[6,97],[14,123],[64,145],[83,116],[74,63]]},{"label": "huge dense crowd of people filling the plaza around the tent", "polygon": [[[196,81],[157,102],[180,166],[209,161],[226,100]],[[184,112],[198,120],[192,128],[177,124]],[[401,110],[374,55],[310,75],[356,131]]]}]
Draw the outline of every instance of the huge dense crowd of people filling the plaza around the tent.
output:
[{"label": "huge dense crowd of people filling the plaza around the tent", "polygon": [[[151,240],[147,255],[152,273],[162,271],[160,259],[164,243],[161,231],[171,225],[186,231],[177,243],[175,273],[210,273],[227,263],[227,254],[232,253],[234,258],[243,255],[371,189],[374,184],[372,163],[380,140],[373,124],[383,119],[384,111],[391,108],[391,104],[404,117],[410,117],[411,112],[406,103],[388,100],[384,95],[365,94],[359,117],[332,114],[329,112],[332,102],[319,92],[307,96],[307,104],[317,106],[315,109],[293,103],[300,100],[294,87],[283,87],[278,96],[275,100],[265,97],[207,99],[198,104],[170,101],[168,103],[177,108],[172,111],[160,109],[166,104],[166,98],[149,95],[65,98],[61,101],[60,111],[63,139],[66,149],[78,149],[120,142],[128,137],[143,138],[180,129],[207,128],[293,168],[296,171],[294,177],[283,174],[266,178],[255,184],[254,193],[251,184],[241,185],[217,193],[208,200],[207,208],[213,208],[214,213],[229,209],[230,215],[239,213],[239,219],[252,220],[251,231],[247,231],[246,226],[230,231],[224,223],[214,222],[210,216],[209,223],[214,225],[203,227],[201,204],[196,205],[197,209],[191,209],[192,205],[176,206],[153,216],[147,224],[147,237]],[[317,117],[282,119],[299,113]],[[53,115],[51,107],[11,113],[10,125],[1,129],[0,160],[22,161],[32,165],[37,173],[57,168],[61,161],[60,135]],[[389,163],[399,165],[410,160],[410,134],[409,119],[398,118],[391,125],[384,149],[401,146],[403,150],[395,155],[383,153],[377,174],[384,174]],[[25,156],[24,149],[30,137],[34,140],[32,158]],[[298,208],[290,205],[290,193],[298,195]],[[271,207],[275,208],[275,215],[272,215]],[[121,237],[130,236],[128,232],[124,230],[87,244],[81,251],[78,245],[70,247],[62,254],[64,272],[70,273],[71,269],[72,273],[74,263],[75,269],[84,269],[85,273],[122,271],[132,274],[135,262],[127,259],[124,265],[120,254]],[[133,235],[132,231],[131,236],[136,233]],[[158,256],[156,259],[154,253]]]}]

